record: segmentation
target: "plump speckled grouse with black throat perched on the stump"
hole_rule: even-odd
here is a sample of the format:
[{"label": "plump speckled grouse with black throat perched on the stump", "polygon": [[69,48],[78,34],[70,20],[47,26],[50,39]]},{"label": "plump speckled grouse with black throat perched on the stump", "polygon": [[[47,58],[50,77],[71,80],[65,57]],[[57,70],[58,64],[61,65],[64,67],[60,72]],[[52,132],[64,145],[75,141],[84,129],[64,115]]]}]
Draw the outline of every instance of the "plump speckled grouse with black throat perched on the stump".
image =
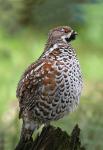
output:
[{"label": "plump speckled grouse with black throat perched on the stump", "polygon": [[46,126],[77,108],[83,79],[71,46],[76,36],[69,26],[51,29],[43,53],[21,76],[16,91],[21,138],[29,140],[42,124]]}]

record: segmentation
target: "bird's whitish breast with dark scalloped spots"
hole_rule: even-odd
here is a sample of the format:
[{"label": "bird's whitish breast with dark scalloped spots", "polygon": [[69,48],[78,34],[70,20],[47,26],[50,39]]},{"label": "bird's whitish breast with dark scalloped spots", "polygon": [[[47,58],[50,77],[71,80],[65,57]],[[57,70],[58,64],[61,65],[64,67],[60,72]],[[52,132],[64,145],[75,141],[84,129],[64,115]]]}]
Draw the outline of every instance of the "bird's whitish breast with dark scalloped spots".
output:
[{"label": "bird's whitish breast with dark scalloped spots", "polygon": [[64,57],[62,55],[58,58],[55,67],[58,70],[55,98],[58,97],[61,107],[67,111],[73,111],[79,103],[82,90],[79,62],[75,56],[64,54]]}]

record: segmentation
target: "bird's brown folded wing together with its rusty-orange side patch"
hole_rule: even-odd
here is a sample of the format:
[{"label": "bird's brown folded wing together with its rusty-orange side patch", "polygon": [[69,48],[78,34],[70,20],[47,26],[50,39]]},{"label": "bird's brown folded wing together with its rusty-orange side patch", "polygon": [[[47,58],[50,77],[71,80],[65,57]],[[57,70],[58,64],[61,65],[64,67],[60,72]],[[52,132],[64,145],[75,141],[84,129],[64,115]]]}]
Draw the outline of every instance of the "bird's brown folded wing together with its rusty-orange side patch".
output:
[{"label": "bird's brown folded wing together with its rusty-orange side patch", "polygon": [[35,107],[39,99],[48,98],[48,94],[56,87],[55,76],[58,74],[54,68],[54,61],[42,59],[31,64],[21,77],[17,87],[20,115],[26,109]]}]

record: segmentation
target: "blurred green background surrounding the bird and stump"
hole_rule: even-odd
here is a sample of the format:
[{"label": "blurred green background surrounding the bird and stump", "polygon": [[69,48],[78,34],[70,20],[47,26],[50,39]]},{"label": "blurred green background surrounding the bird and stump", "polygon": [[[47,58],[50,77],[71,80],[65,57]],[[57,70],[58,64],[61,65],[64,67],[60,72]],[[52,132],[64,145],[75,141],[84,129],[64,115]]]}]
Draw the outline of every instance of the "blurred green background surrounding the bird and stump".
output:
[{"label": "blurred green background surrounding the bird and stump", "polygon": [[16,87],[24,69],[43,52],[48,31],[70,25],[84,88],[78,109],[53,122],[68,133],[79,124],[88,150],[103,150],[102,0],[0,0],[0,150],[14,149],[20,133]]}]

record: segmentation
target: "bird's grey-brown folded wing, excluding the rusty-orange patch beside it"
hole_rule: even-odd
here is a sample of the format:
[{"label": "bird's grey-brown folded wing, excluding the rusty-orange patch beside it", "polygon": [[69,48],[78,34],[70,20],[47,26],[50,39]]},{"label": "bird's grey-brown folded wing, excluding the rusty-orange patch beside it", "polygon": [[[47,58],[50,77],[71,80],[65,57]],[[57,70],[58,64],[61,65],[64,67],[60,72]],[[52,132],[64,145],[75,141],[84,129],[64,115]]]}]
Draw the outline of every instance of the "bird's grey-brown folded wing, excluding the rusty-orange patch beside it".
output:
[{"label": "bird's grey-brown folded wing, excluding the rusty-orange patch beside it", "polygon": [[[40,68],[42,66],[42,61],[32,63],[23,73],[18,86],[16,95],[19,100],[20,113],[21,117],[22,111],[27,108],[29,109],[34,104],[35,96],[39,90],[38,86],[41,86],[40,79]],[[32,101],[33,100],[33,101]]]}]

